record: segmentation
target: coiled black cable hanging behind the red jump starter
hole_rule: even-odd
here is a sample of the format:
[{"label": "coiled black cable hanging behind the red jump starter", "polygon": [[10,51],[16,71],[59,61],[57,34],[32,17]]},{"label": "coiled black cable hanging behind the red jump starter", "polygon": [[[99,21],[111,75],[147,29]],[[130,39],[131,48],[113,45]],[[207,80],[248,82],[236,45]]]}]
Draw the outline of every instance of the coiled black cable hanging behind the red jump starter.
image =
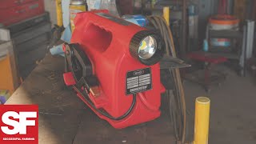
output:
[{"label": "coiled black cable hanging behind the red jump starter", "polygon": [[[150,16],[148,20],[154,29],[159,30],[166,44],[166,54],[177,58],[174,48],[173,37],[170,27],[166,24],[164,18],[160,16]],[[174,123],[174,133],[177,141],[185,143],[186,141],[186,102],[182,86],[182,80],[178,69],[170,69],[170,74],[174,78],[174,94],[172,90],[167,90],[170,98],[170,115]]]}]

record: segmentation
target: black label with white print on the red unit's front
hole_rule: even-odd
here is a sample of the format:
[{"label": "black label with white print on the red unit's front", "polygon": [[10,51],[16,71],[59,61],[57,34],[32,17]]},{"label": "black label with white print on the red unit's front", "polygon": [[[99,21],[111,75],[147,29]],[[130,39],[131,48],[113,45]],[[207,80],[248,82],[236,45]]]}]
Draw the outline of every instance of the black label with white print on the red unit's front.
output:
[{"label": "black label with white print on the red unit's front", "polygon": [[151,69],[129,71],[126,74],[126,95],[152,89]]}]

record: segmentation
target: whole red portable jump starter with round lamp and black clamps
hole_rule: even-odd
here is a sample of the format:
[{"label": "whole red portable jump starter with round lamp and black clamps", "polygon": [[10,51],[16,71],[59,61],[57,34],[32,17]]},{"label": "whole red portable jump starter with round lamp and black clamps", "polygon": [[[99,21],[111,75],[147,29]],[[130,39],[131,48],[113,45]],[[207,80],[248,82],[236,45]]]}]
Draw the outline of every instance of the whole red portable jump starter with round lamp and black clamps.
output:
[{"label": "whole red portable jump starter with round lamp and black clamps", "polygon": [[158,118],[162,37],[107,10],[78,13],[74,24],[63,46],[66,86],[116,129]]}]

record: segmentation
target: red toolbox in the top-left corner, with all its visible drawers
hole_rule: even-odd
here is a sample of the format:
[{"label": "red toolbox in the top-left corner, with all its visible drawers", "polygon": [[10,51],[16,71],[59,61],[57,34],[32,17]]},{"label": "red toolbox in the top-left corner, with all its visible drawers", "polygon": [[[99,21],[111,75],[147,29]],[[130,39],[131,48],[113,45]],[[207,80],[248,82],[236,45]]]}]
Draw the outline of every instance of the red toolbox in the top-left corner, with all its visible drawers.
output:
[{"label": "red toolbox in the top-left corner, with all its visible drawers", "polygon": [[43,0],[0,0],[0,23],[9,26],[44,11]]}]

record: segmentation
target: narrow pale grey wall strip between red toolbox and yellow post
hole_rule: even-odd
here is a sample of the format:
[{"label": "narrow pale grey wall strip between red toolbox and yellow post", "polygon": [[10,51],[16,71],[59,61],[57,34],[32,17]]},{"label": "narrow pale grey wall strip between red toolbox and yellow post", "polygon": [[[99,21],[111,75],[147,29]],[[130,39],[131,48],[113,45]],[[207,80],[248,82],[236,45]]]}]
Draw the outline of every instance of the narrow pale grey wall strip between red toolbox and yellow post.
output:
[{"label": "narrow pale grey wall strip between red toolbox and yellow post", "polygon": [[55,0],[44,0],[44,1],[45,1],[45,9],[50,13],[50,21],[53,26],[54,24],[57,23]]}]

